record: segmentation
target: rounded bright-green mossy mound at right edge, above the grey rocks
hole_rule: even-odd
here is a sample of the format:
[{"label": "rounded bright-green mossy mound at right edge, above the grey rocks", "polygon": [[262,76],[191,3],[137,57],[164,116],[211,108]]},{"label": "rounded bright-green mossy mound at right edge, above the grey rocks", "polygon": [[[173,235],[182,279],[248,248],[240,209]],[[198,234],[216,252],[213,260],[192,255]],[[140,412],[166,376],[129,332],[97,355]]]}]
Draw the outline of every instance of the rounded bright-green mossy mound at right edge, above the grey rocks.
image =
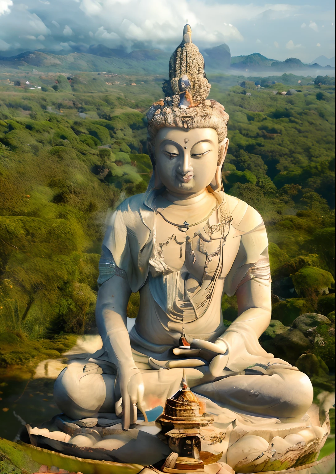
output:
[{"label": "rounded bright-green mossy mound at right edge, above the grey rocks", "polygon": [[311,292],[328,293],[328,288],[335,285],[333,275],[326,270],[312,266],[306,266],[299,272],[291,275],[295,291],[299,296],[309,296]]}]

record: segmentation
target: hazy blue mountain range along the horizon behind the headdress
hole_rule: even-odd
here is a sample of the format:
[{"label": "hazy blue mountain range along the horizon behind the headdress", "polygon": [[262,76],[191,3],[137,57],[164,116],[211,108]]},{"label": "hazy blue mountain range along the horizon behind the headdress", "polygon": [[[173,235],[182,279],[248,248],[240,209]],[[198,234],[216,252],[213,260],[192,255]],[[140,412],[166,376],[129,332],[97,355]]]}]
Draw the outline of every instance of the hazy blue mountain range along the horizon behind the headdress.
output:
[{"label": "hazy blue mountain range along the horizon behind the headdress", "polygon": [[[304,64],[298,58],[285,61],[267,58],[260,53],[245,56],[231,56],[225,43],[201,50],[205,68],[209,72],[270,73],[307,71],[318,72],[335,70],[335,58],[331,60],[319,56],[313,63]],[[170,53],[160,49],[135,49],[128,53],[125,49],[112,49],[104,45],[74,45],[72,50],[60,54],[44,51],[26,51],[15,56],[0,57],[0,67],[11,69],[43,69],[45,72],[70,73],[73,71],[100,72],[116,74],[150,73],[165,74],[168,69]],[[318,61],[320,61],[320,64]],[[329,62],[329,63],[328,63]],[[326,64],[328,63],[328,64]],[[332,63],[332,64],[330,64]]]}]

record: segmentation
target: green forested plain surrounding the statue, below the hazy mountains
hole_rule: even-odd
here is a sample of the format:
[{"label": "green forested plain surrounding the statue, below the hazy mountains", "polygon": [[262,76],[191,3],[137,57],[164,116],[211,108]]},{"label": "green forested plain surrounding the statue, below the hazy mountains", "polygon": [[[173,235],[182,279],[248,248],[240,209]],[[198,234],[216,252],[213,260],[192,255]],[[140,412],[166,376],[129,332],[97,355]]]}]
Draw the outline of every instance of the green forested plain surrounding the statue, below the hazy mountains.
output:
[{"label": "green forested plain surrounding the statue, below the hazy mountains", "polygon": [[[105,218],[147,187],[145,112],[163,79],[0,71],[3,371],[33,370],[74,335],[95,332]],[[334,386],[335,85],[292,74],[255,80],[209,76],[209,98],[230,115],[224,189],[255,207],[268,231],[273,314],[261,343],[306,371],[318,394]],[[138,302],[133,294],[130,317]],[[222,309],[230,324],[235,297]],[[322,316],[300,326],[307,313]]]}]

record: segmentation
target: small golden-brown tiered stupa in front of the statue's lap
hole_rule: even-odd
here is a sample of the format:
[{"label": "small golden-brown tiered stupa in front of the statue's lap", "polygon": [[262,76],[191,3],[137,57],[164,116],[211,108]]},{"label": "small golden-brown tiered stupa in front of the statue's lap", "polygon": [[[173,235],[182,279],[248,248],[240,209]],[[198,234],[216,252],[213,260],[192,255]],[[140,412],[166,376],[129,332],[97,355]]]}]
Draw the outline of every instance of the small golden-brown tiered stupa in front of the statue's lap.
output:
[{"label": "small golden-brown tiered stupa in front of the statue's lap", "polygon": [[200,428],[213,423],[214,418],[202,412],[201,405],[189,389],[184,373],[181,389],[168,398],[158,419],[162,432],[168,438],[168,446],[173,451],[161,468],[163,472],[178,474],[204,470],[204,462],[200,456]]}]

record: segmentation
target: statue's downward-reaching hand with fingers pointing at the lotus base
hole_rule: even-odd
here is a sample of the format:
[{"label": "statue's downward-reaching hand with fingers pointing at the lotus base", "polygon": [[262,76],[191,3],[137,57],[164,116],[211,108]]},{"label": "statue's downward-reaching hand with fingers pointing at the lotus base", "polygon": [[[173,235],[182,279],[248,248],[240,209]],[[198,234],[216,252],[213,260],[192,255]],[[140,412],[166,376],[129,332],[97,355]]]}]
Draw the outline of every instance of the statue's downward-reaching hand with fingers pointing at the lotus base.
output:
[{"label": "statue's downward-reaching hand with fingers pointing at the lotus base", "polygon": [[147,421],[143,407],[144,385],[137,367],[118,367],[116,393],[118,392],[120,399],[115,403],[115,413],[117,416],[122,416],[123,429],[129,429],[130,424],[136,422],[138,408]]}]

